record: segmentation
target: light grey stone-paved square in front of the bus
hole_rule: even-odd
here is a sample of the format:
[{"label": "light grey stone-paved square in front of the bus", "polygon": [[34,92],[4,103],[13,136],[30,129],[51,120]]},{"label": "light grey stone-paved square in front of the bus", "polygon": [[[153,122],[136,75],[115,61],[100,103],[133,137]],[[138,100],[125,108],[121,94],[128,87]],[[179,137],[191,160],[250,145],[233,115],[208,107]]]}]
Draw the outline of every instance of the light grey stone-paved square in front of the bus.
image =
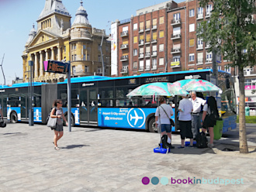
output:
[{"label": "light grey stone-paved square in front of the bus", "polygon": [[[160,135],[115,129],[64,128],[54,149],[54,132],[46,125],[8,124],[0,129],[0,191],[255,191],[256,146],[237,149],[238,140],[223,138],[214,149],[177,149],[153,153]],[[224,143],[224,144],[223,144]],[[143,177],[168,177],[166,185],[142,183]],[[243,179],[242,184],[171,183],[178,179]]]}]

